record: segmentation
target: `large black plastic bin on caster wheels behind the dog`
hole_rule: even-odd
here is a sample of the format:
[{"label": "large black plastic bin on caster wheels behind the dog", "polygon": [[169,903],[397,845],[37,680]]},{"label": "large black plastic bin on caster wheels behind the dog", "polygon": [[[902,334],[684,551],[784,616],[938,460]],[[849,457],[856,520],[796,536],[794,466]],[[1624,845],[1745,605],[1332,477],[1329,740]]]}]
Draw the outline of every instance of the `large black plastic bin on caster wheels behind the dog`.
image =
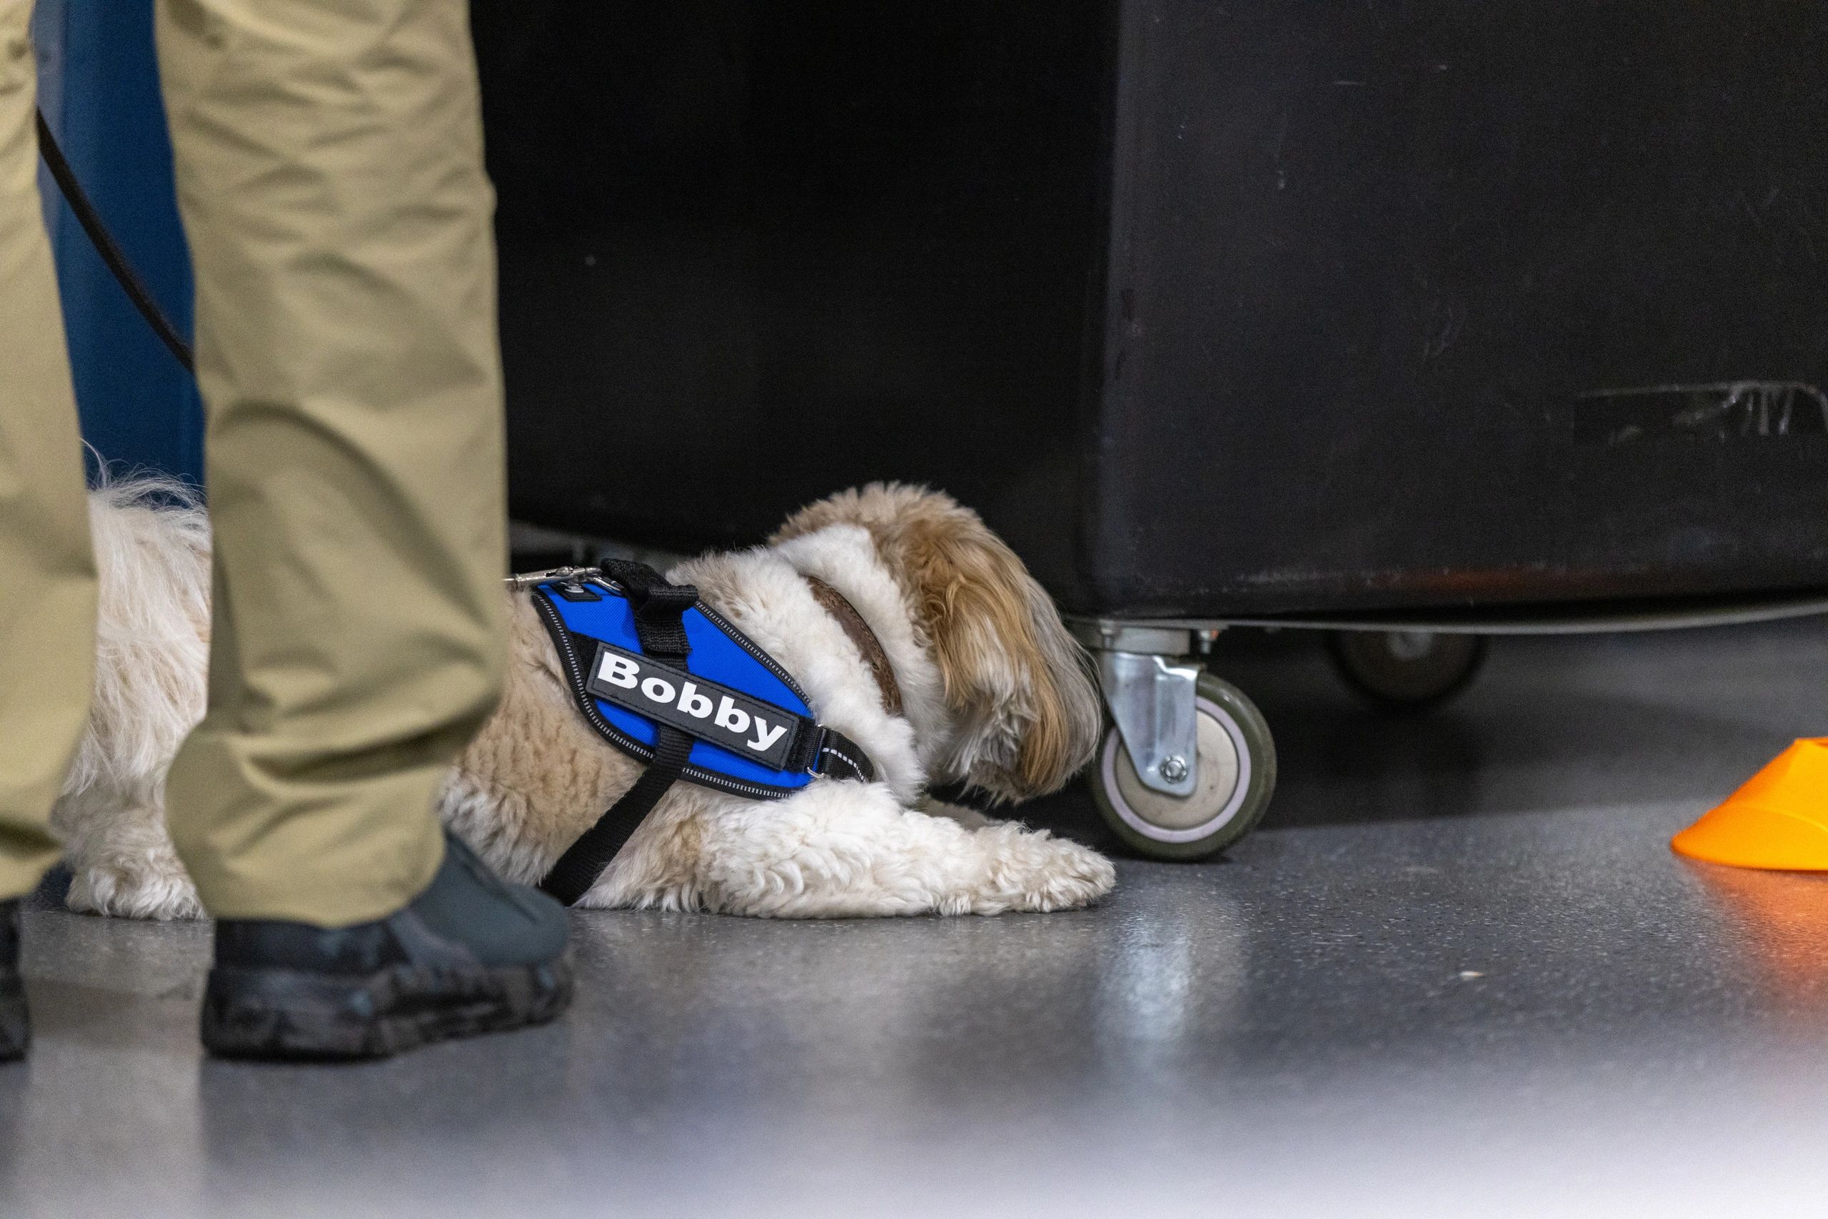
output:
[{"label": "large black plastic bin on caster wheels behind the dog", "polygon": [[1387,629],[1342,665],[1426,702],[1477,662],[1444,632],[1828,596],[1828,5],[475,26],[515,514],[689,548],[945,486],[1099,651],[1142,850],[1269,799],[1181,660],[1225,623]]}]

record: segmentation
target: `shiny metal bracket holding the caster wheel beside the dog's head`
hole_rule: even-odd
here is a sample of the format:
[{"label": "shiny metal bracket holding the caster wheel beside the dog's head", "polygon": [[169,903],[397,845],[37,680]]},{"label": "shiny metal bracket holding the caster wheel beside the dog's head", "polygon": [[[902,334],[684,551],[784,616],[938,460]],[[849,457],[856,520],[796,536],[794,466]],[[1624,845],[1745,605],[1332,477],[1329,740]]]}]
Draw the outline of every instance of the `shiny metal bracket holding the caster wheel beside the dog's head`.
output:
[{"label": "shiny metal bracket holding the caster wheel beside the dog's head", "polygon": [[1192,636],[1157,627],[1089,623],[1075,631],[1097,652],[1099,687],[1144,788],[1188,797],[1199,786],[1197,665],[1185,656]]}]

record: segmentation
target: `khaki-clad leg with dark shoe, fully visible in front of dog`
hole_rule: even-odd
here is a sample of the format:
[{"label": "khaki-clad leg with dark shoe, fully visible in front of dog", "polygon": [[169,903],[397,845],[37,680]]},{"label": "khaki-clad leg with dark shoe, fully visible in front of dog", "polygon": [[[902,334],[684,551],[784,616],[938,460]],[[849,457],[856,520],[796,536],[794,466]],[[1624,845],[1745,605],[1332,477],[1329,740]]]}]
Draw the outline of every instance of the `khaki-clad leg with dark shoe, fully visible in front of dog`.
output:
[{"label": "khaki-clad leg with dark shoe, fully visible in front of dog", "polygon": [[208,711],[166,819],[221,1055],[537,1023],[565,912],[446,841],[494,707],[506,504],[466,0],[163,0],[214,521]]}]

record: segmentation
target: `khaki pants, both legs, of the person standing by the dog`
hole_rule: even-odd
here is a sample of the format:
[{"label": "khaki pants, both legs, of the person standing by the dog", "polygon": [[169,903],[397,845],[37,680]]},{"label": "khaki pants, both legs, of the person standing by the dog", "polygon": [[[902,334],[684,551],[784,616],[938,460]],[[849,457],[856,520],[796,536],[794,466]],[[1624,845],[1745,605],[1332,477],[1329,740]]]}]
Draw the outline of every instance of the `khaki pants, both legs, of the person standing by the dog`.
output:
[{"label": "khaki pants, both legs, of the person standing by the dog", "polygon": [[[503,663],[495,278],[464,0],[159,0],[216,528],[172,837],[225,917],[347,925],[442,859]],[[0,896],[55,859],[93,651],[75,408],[0,0]]]}]

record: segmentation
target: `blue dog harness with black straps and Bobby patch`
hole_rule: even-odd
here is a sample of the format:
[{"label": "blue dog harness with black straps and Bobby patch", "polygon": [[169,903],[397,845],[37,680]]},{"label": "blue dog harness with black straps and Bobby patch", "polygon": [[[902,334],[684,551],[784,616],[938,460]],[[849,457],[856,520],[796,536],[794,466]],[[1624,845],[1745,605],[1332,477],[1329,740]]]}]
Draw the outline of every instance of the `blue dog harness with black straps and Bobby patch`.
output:
[{"label": "blue dog harness with black straps and Bobby patch", "polygon": [[815,775],[876,779],[854,740],[817,722],[793,674],[698,601],[693,585],[611,559],[554,572],[532,598],[578,711],[598,737],[647,762],[539,883],[565,905],[596,885],[675,782],[779,800]]}]

